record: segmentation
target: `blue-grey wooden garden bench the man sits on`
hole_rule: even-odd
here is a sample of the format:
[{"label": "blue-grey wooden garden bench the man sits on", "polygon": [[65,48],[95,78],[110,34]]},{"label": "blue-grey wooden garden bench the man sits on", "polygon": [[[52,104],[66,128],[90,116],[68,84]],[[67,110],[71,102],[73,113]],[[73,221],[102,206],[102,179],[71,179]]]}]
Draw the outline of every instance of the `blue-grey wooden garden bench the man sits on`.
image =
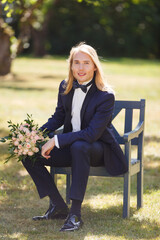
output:
[{"label": "blue-grey wooden garden bench the man sits on", "polygon": [[[134,115],[135,114],[135,115]],[[118,133],[114,122],[117,116],[122,115],[124,120],[120,118],[118,122],[121,122],[124,126],[122,134]],[[137,126],[133,129],[133,123],[135,116],[138,118]],[[145,100],[140,101],[116,101],[114,112],[113,112],[113,129],[115,136],[120,145],[123,145],[124,154],[128,162],[128,172],[122,177],[124,179],[123,187],[123,218],[128,218],[130,214],[130,185],[131,176],[137,175],[137,209],[143,206],[143,141],[144,141],[144,120],[145,120]],[[59,133],[58,130],[57,133]],[[131,147],[136,148],[137,156],[132,157]],[[71,168],[70,167],[52,167],[51,174],[54,177],[55,183],[57,184],[57,174],[66,175],[66,202],[69,203],[69,190],[71,183]],[[104,167],[91,167],[90,176],[103,176],[111,177]]]}]

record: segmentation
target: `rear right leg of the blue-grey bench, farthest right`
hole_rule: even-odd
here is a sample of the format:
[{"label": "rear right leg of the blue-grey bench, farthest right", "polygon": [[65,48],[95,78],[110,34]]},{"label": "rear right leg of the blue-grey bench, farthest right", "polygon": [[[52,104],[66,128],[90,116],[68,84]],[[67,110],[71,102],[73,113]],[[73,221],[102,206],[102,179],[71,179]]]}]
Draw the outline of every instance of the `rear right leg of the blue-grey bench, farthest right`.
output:
[{"label": "rear right leg of the blue-grey bench, farthest right", "polygon": [[137,209],[143,207],[143,169],[137,173]]}]

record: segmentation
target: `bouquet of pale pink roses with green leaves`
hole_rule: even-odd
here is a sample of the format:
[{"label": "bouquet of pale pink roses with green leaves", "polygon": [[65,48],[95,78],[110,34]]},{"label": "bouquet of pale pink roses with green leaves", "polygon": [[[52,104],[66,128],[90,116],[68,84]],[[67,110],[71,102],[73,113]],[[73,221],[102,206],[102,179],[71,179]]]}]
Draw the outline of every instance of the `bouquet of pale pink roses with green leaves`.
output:
[{"label": "bouquet of pale pink roses with green leaves", "polygon": [[42,146],[47,142],[48,136],[45,130],[38,129],[38,124],[35,124],[32,115],[27,114],[27,119],[24,123],[14,124],[8,121],[10,133],[8,136],[1,138],[0,142],[9,141],[9,157],[16,158],[17,161],[23,161],[29,157],[33,162],[40,156]]}]

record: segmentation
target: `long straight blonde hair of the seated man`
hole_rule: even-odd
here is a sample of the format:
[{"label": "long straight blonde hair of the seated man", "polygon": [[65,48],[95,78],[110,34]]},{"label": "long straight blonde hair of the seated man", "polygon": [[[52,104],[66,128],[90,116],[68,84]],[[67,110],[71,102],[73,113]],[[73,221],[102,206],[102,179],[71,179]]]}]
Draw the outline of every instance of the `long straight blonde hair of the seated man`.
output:
[{"label": "long straight blonde hair of the seated man", "polygon": [[96,50],[93,47],[91,47],[90,45],[87,45],[85,42],[81,42],[78,45],[72,47],[72,49],[70,51],[70,55],[68,58],[69,72],[68,72],[68,77],[66,79],[66,90],[65,90],[64,94],[68,94],[70,92],[70,90],[72,89],[74,76],[73,76],[71,68],[72,68],[74,54],[77,52],[83,52],[83,53],[88,54],[91,57],[93,63],[95,64],[95,67],[96,67],[95,84],[96,84],[97,88],[101,91],[112,91],[113,92],[112,88],[108,84],[104,83],[104,74],[103,74],[101,63],[99,61]]}]

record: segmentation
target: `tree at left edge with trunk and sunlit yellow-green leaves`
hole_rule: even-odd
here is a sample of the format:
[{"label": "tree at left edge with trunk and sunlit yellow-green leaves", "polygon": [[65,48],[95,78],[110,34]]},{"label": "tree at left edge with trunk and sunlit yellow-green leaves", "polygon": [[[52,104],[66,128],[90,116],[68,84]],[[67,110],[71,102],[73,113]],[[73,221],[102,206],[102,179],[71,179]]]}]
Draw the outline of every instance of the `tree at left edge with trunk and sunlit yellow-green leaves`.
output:
[{"label": "tree at left edge with trunk and sunlit yellow-green leaves", "polygon": [[[31,37],[31,26],[38,21],[36,11],[43,5],[44,0],[2,0],[0,2],[0,75],[10,73],[12,57],[22,52]],[[13,12],[14,15],[13,15]],[[19,33],[16,40],[14,55],[11,44],[15,31],[7,19],[18,18]],[[15,39],[15,38],[14,38]]]}]

